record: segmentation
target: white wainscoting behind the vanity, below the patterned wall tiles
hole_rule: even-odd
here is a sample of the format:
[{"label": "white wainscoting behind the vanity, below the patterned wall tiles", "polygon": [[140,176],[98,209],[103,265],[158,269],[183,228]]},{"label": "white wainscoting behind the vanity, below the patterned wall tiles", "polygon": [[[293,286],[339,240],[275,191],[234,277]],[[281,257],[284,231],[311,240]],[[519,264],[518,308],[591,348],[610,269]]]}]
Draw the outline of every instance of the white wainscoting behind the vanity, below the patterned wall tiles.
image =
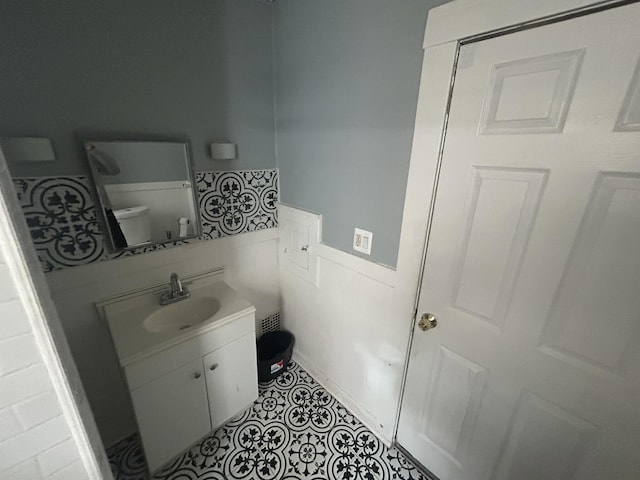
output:
[{"label": "white wainscoting behind the vanity, below the patterned wall tiles", "polygon": [[118,293],[168,283],[223,267],[224,279],[256,307],[256,319],[280,310],[277,230],[195,242],[145,255],[97,262],[47,274],[74,359],[105,445],[135,430],[109,330],[94,302]]}]

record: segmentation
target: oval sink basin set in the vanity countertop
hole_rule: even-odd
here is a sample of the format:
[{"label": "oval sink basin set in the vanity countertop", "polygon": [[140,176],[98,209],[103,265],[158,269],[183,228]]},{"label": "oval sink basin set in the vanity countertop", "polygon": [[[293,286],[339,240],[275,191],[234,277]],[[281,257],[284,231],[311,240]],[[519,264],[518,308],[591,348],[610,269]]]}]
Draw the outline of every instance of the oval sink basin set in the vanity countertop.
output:
[{"label": "oval sink basin set in the vanity countertop", "polygon": [[213,297],[196,297],[160,307],[142,322],[152,333],[181,331],[210,319],[220,310],[220,302]]}]

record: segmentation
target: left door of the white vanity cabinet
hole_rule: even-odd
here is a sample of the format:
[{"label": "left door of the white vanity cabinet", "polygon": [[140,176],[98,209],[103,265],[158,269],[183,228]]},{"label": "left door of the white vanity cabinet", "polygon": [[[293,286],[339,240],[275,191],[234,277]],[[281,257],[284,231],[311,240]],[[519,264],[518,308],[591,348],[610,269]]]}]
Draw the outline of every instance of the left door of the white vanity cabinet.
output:
[{"label": "left door of the white vanity cabinet", "polygon": [[211,430],[202,370],[198,358],[131,391],[150,471]]}]

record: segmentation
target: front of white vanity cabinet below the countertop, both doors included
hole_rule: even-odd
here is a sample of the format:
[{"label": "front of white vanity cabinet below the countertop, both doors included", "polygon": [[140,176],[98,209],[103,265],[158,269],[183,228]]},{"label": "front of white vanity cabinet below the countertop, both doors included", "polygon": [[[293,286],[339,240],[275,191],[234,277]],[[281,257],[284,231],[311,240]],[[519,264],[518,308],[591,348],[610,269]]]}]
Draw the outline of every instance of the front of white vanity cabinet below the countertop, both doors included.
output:
[{"label": "front of white vanity cabinet below the countertop, both doors included", "polygon": [[149,470],[258,397],[254,314],[124,367]]}]

